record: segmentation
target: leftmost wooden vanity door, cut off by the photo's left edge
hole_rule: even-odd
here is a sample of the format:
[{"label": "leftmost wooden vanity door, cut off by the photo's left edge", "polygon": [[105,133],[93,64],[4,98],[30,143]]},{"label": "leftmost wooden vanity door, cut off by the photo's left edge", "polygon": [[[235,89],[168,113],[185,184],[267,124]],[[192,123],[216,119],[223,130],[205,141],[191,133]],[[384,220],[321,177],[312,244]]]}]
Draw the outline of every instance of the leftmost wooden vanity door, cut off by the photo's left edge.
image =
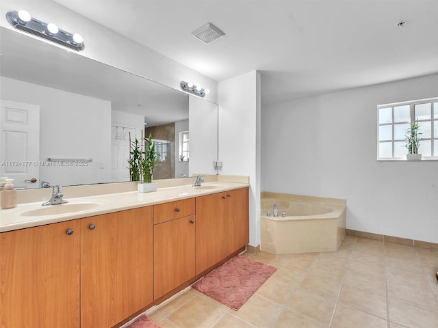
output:
[{"label": "leftmost wooden vanity door, cut off by the photo's left edge", "polygon": [[79,240],[77,220],[0,234],[0,327],[79,327]]}]

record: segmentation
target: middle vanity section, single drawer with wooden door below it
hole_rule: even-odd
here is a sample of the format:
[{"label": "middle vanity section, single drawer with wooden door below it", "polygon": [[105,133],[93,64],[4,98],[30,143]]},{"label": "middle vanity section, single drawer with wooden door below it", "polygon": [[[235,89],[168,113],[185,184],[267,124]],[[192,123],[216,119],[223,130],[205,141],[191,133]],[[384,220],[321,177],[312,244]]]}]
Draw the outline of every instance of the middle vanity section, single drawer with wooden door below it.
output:
[{"label": "middle vanity section, single drawer with wooden door below it", "polygon": [[195,199],[154,206],[154,299],[195,275]]}]

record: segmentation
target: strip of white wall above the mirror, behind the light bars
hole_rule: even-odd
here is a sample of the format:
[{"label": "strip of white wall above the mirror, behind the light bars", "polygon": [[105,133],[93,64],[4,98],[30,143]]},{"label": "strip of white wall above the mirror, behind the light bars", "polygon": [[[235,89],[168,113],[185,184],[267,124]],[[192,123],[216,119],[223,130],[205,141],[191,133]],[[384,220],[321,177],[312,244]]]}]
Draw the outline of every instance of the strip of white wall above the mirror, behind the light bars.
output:
[{"label": "strip of white wall above the mirror, behind the light bars", "polygon": [[179,83],[182,80],[194,81],[209,88],[210,93],[205,97],[207,100],[217,102],[218,84],[216,81],[142,44],[121,36],[103,25],[94,23],[93,20],[54,1],[2,0],[0,1],[0,26],[16,31],[8,23],[5,15],[12,10],[21,9],[27,10],[32,16],[46,23],[57,24],[60,29],[81,34],[86,48],[79,55],[96,59],[127,72],[136,73],[141,77],[168,85],[176,90],[181,90]]}]

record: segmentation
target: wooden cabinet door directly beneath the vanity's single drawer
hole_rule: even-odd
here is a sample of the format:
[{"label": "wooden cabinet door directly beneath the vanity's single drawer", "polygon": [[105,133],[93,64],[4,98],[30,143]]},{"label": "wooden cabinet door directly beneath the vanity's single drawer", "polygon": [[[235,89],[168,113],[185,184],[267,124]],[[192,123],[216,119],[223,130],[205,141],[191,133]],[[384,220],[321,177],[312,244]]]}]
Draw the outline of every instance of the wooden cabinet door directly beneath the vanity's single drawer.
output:
[{"label": "wooden cabinet door directly beneath the vanity's single drawer", "polygon": [[195,273],[195,217],[156,224],[154,231],[154,299],[177,288]]}]

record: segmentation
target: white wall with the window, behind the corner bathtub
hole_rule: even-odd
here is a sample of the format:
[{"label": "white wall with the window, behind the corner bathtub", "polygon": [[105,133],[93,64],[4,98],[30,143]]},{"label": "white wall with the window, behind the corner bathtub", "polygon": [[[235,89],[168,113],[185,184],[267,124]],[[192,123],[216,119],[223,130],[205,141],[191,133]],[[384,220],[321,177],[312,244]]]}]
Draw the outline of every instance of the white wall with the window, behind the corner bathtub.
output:
[{"label": "white wall with the window, behind the corner bathtub", "polygon": [[376,106],[437,85],[435,74],[263,107],[262,191],[345,198],[348,229],[438,243],[438,163],[376,161]]}]

